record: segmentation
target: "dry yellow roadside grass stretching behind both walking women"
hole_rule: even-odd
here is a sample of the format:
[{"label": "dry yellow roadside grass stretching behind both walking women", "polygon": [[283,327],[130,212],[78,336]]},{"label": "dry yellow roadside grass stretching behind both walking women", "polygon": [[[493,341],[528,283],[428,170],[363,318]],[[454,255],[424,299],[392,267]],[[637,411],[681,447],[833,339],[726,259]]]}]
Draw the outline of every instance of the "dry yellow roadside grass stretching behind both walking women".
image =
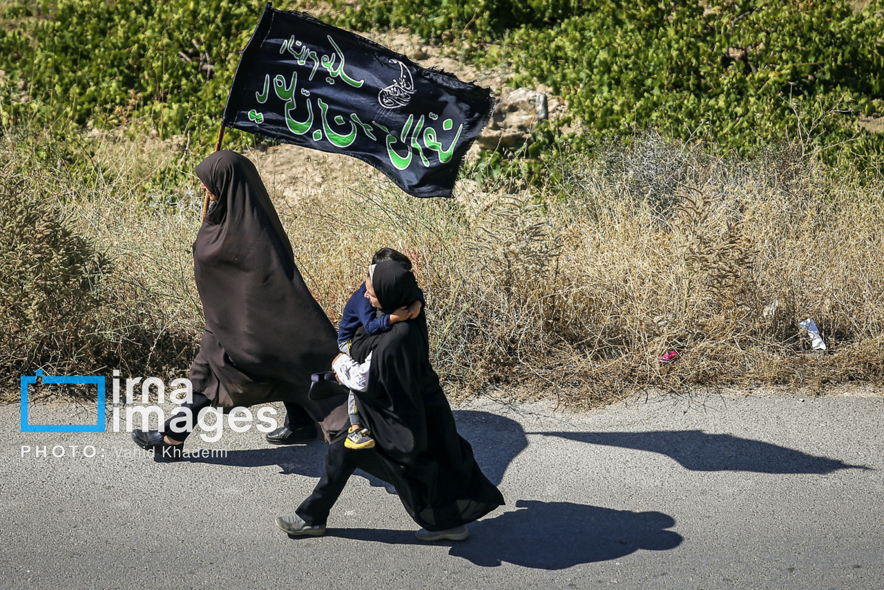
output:
[{"label": "dry yellow roadside grass stretching behind both walking women", "polygon": [[[115,269],[94,330],[104,361],[82,371],[184,372],[201,321],[198,199],[181,187],[135,202],[124,187],[161,154],[115,149],[102,169],[117,180],[68,205]],[[274,197],[334,322],[375,249],[412,258],[454,396],[505,386],[576,407],[647,388],[884,380],[880,186],[831,178],[789,146],[729,162],[654,135],[556,165],[546,198],[463,181],[454,200],[418,200],[370,179],[346,200]],[[807,317],[826,353],[799,331]]]}]

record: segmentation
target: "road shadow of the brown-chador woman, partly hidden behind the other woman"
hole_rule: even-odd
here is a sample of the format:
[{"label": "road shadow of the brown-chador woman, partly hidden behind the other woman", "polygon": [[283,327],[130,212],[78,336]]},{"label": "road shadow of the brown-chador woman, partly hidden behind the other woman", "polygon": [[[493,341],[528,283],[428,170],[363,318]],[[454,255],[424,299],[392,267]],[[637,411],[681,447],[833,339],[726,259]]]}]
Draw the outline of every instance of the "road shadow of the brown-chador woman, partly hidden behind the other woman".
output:
[{"label": "road shadow of the brown-chador woman, partly hidden behind the other woman", "polygon": [[[477,410],[454,410],[458,432],[469,441],[476,462],[495,486],[513,459],[528,447],[528,437],[522,425],[511,418]],[[230,465],[232,467],[266,467],[278,465],[280,475],[303,475],[319,478],[323,474],[325,452],[322,441],[288,447],[232,450],[226,456],[190,457],[191,463]],[[359,451],[353,451],[358,453]],[[356,473],[367,479],[372,487],[384,487],[391,494],[392,486],[362,470]]]}]

